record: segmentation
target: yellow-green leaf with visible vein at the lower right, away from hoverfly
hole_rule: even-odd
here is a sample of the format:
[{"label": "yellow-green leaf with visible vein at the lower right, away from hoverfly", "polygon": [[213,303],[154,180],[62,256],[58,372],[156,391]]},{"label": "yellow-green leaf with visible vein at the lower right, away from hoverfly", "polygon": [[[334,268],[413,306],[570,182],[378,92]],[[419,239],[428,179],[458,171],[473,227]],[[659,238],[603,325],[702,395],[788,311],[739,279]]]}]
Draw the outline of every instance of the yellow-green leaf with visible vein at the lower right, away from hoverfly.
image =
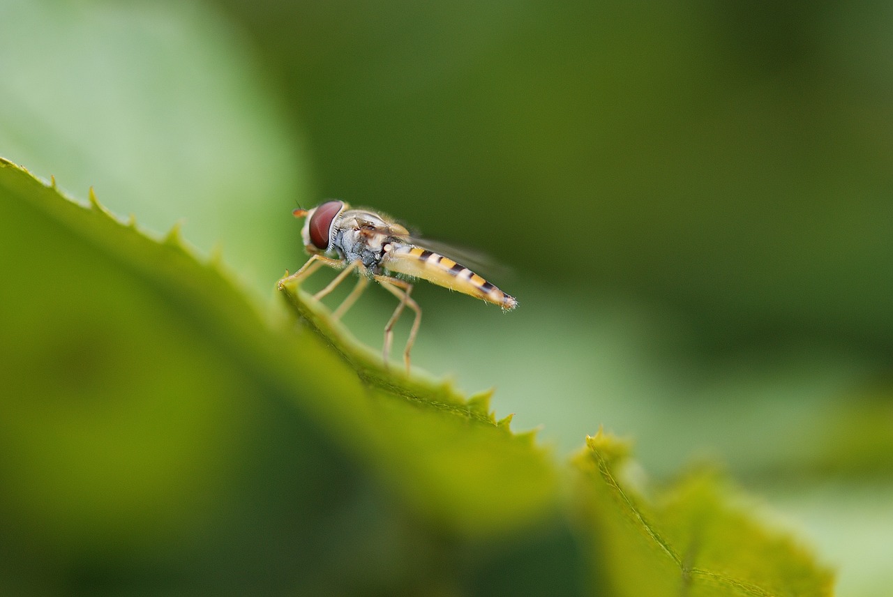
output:
[{"label": "yellow-green leaf with visible vein at the lower right, away from hoverfly", "polygon": [[627,447],[602,432],[578,459],[594,557],[617,595],[830,595],[833,578],[771,532],[717,477],[697,474],[646,500],[623,481]]}]

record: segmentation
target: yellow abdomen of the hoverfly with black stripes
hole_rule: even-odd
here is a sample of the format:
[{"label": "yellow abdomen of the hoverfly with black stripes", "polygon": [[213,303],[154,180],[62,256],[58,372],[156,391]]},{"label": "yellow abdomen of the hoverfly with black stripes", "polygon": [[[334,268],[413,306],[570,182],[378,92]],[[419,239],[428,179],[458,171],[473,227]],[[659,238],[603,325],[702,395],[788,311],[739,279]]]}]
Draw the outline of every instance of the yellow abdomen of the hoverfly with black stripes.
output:
[{"label": "yellow abdomen of the hoverfly with black stripes", "polygon": [[513,296],[505,294],[471,269],[449,257],[413,245],[388,246],[385,247],[386,254],[381,260],[381,265],[390,271],[424,278],[438,286],[445,286],[488,303],[497,304],[505,310],[518,306]]}]

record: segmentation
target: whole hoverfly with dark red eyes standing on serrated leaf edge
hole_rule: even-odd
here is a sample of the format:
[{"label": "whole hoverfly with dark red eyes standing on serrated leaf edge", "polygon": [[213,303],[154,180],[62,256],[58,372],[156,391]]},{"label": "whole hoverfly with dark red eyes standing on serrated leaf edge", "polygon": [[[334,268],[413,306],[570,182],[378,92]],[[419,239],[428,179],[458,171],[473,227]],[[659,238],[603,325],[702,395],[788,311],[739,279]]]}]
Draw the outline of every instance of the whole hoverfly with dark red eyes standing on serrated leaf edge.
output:
[{"label": "whole hoverfly with dark red eyes standing on serrated leaf edge", "polygon": [[[328,201],[313,209],[296,209],[292,213],[296,218],[305,219],[301,236],[305,250],[311,257],[301,269],[280,280],[280,290],[288,281],[303,280],[323,265],[341,269],[328,286],[313,295],[314,299],[321,300],[352,271],[356,271],[359,274],[356,286],[332,313],[338,319],[363,294],[370,279],[384,286],[400,301],[385,326],[383,356],[386,367],[394,337],[394,325],[408,306],[415,311],[413,327],[403,352],[406,370],[409,371],[409,353],[421,324],[421,308],[410,297],[413,284],[409,279],[426,279],[438,286],[497,304],[504,311],[511,311],[518,306],[513,296],[505,294],[471,269],[425,248],[425,241],[414,238],[406,228],[381,213],[351,209],[343,201]],[[395,274],[409,279],[396,278]]]}]

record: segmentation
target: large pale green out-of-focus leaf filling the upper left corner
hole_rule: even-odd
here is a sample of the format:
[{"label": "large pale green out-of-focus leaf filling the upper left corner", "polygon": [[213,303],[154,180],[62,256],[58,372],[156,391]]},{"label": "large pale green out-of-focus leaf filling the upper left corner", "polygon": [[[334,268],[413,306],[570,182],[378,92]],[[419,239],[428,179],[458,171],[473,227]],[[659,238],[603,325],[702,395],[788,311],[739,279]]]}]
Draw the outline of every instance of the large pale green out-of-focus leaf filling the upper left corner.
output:
[{"label": "large pale green out-of-focus leaf filling the upper left corner", "polygon": [[155,233],[182,222],[269,293],[308,174],[237,26],[195,0],[3,2],[0,55],[0,154]]}]

